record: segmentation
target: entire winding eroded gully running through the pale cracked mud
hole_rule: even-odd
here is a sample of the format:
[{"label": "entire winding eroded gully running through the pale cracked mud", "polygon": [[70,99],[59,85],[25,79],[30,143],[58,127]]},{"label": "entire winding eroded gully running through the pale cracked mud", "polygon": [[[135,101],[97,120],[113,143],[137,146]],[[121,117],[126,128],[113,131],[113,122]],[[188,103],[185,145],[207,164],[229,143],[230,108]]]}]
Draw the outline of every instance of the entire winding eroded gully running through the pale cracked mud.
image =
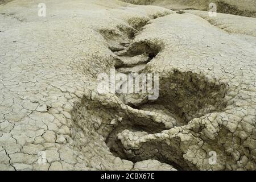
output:
[{"label": "entire winding eroded gully running through the pale cracked mud", "polygon": [[[162,51],[164,44],[150,40],[133,42],[144,24],[146,21],[131,28],[101,30],[117,57],[117,72],[126,76],[130,72],[150,73],[147,63]],[[172,136],[167,144],[156,136],[186,125],[193,118],[224,109],[226,85],[216,83],[202,75],[174,69],[169,75],[160,76],[157,100],[148,100],[147,94],[116,93],[120,103],[111,105],[84,98],[74,111],[76,125],[102,135],[110,152],[121,159],[134,163],[156,159],[176,169],[195,170],[196,166],[183,158],[179,137]]]}]

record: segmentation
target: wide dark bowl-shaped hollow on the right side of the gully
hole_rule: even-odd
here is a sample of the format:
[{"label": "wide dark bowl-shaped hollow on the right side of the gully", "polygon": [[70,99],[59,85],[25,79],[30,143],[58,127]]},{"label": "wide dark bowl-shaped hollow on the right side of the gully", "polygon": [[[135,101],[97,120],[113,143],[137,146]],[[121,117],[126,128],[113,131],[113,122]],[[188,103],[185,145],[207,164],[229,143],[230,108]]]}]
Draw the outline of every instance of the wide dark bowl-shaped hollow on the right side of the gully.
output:
[{"label": "wide dark bowl-shaped hollow on the right side of the gully", "polygon": [[174,70],[170,76],[159,78],[158,100],[147,101],[137,108],[162,105],[183,123],[188,123],[193,118],[223,110],[227,104],[224,100],[226,92],[225,84],[209,82],[196,73]]}]

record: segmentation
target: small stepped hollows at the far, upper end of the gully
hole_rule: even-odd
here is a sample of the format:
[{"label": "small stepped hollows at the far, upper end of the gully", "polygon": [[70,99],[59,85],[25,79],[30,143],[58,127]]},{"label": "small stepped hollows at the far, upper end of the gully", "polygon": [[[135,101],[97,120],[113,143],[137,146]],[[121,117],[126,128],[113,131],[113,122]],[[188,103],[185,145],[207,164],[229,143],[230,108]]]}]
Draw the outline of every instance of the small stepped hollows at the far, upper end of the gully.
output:
[{"label": "small stepped hollows at the far, upper end of the gully", "polygon": [[[139,32],[135,28],[141,30],[147,22],[148,20],[145,20],[144,23],[133,24],[133,28],[118,26],[118,30],[100,30],[109,44],[109,49],[117,55],[114,65],[117,71],[125,74],[139,72],[163,49],[159,44],[154,44],[149,40],[132,43],[135,34]],[[130,24],[132,23],[130,22]],[[134,71],[129,72],[126,68],[134,68]]]}]

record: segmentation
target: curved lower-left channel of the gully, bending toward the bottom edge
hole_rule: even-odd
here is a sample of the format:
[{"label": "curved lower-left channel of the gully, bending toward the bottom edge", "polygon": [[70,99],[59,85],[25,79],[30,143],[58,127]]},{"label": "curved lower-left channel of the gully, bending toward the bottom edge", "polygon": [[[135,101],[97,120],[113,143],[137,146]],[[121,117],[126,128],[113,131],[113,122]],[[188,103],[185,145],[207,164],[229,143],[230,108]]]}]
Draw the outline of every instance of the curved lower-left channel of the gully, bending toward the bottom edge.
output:
[{"label": "curved lower-left channel of the gully, bending toward the bottom edge", "polygon": [[[121,159],[127,159],[133,162],[139,162],[146,159],[157,159],[160,162],[171,164],[177,169],[183,169],[183,167],[179,166],[179,163],[170,159],[165,159],[163,156],[160,157],[161,152],[158,152],[159,156],[145,156],[145,154],[139,153],[136,156],[129,155],[117,138],[118,134],[122,133],[124,130],[133,131],[138,135],[139,139],[140,136],[161,133],[163,130],[170,128],[166,123],[157,121],[154,115],[159,114],[162,113],[150,114],[143,110],[132,109],[131,107],[127,110],[121,105],[101,104],[99,101],[92,101],[84,97],[82,98],[81,103],[77,103],[74,106],[72,118],[76,127],[81,130],[86,129],[84,130],[85,135],[87,136],[89,134],[86,141],[90,140],[90,136],[96,136],[93,133],[102,135],[114,156],[119,156]],[[76,136],[76,132],[74,132],[71,137],[74,140],[84,141],[83,139],[80,139],[79,136]],[[81,150],[85,145],[86,143],[76,142],[76,147],[81,148]],[[159,148],[159,150],[161,149]],[[146,154],[150,153],[150,150],[148,149],[145,151]],[[179,158],[181,156],[179,156]]]}]

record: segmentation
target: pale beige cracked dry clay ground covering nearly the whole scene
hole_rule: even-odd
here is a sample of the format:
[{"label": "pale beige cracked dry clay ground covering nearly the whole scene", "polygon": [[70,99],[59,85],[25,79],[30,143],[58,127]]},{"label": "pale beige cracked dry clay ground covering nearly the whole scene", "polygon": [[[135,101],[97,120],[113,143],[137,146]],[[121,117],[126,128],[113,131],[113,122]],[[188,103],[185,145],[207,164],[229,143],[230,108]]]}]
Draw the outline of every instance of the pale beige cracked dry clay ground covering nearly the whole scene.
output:
[{"label": "pale beige cracked dry clay ground covering nearly the whole scene", "polygon": [[[0,5],[1,170],[256,169],[255,18],[44,2]],[[110,68],[159,98],[98,93]]]}]

